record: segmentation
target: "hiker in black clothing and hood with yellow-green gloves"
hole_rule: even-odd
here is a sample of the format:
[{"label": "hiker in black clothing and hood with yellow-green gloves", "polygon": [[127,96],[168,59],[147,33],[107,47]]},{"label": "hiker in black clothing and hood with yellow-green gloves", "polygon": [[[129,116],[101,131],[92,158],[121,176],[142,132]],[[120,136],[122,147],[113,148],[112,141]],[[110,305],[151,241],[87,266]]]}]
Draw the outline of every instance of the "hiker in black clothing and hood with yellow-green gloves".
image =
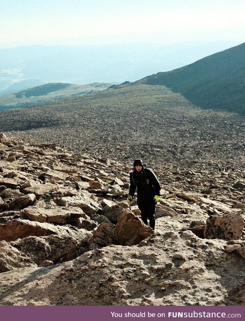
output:
[{"label": "hiker in black clothing and hood with yellow-green gloves", "polygon": [[160,200],[161,186],[150,168],[144,168],[141,159],[135,159],[134,170],[130,172],[130,188],[127,202],[130,205],[137,188],[137,205],[141,211],[141,219],[147,225],[155,229],[156,204]]}]

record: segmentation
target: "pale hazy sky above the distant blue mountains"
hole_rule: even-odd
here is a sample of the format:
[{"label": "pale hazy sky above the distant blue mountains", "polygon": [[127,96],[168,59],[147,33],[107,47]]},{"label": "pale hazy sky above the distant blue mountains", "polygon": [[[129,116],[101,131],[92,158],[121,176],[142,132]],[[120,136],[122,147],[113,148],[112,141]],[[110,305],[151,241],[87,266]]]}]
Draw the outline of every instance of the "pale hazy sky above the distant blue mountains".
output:
[{"label": "pale hazy sky above the distant blue mountains", "polygon": [[0,48],[244,42],[244,0],[0,0]]}]

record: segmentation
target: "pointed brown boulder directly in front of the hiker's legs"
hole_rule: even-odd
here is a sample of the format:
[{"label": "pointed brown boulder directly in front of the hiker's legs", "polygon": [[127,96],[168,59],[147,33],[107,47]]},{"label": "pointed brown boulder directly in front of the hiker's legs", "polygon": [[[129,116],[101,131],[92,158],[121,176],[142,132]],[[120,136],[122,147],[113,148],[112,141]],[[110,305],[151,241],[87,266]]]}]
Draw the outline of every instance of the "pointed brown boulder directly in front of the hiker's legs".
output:
[{"label": "pointed brown boulder directly in front of the hiker's legs", "polygon": [[136,245],[153,233],[154,230],[146,226],[131,210],[125,209],[115,226],[113,240],[121,245]]}]

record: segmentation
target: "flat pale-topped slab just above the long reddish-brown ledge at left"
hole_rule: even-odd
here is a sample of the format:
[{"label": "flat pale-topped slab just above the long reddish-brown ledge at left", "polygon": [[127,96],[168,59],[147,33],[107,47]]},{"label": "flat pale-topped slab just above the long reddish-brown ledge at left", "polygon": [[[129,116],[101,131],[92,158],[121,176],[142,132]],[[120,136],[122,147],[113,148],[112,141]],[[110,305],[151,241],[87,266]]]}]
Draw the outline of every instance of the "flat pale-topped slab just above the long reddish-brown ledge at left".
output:
[{"label": "flat pale-topped slab just above the long reddish-brown ledge at left", "polygon": [[83,215],[83,210],[79,207],[58,207],[57,208],[42,208],[30,206],[24,209],[24,213],[31,221],[40,223],[57,223],[68,224],[78,221]]}]

